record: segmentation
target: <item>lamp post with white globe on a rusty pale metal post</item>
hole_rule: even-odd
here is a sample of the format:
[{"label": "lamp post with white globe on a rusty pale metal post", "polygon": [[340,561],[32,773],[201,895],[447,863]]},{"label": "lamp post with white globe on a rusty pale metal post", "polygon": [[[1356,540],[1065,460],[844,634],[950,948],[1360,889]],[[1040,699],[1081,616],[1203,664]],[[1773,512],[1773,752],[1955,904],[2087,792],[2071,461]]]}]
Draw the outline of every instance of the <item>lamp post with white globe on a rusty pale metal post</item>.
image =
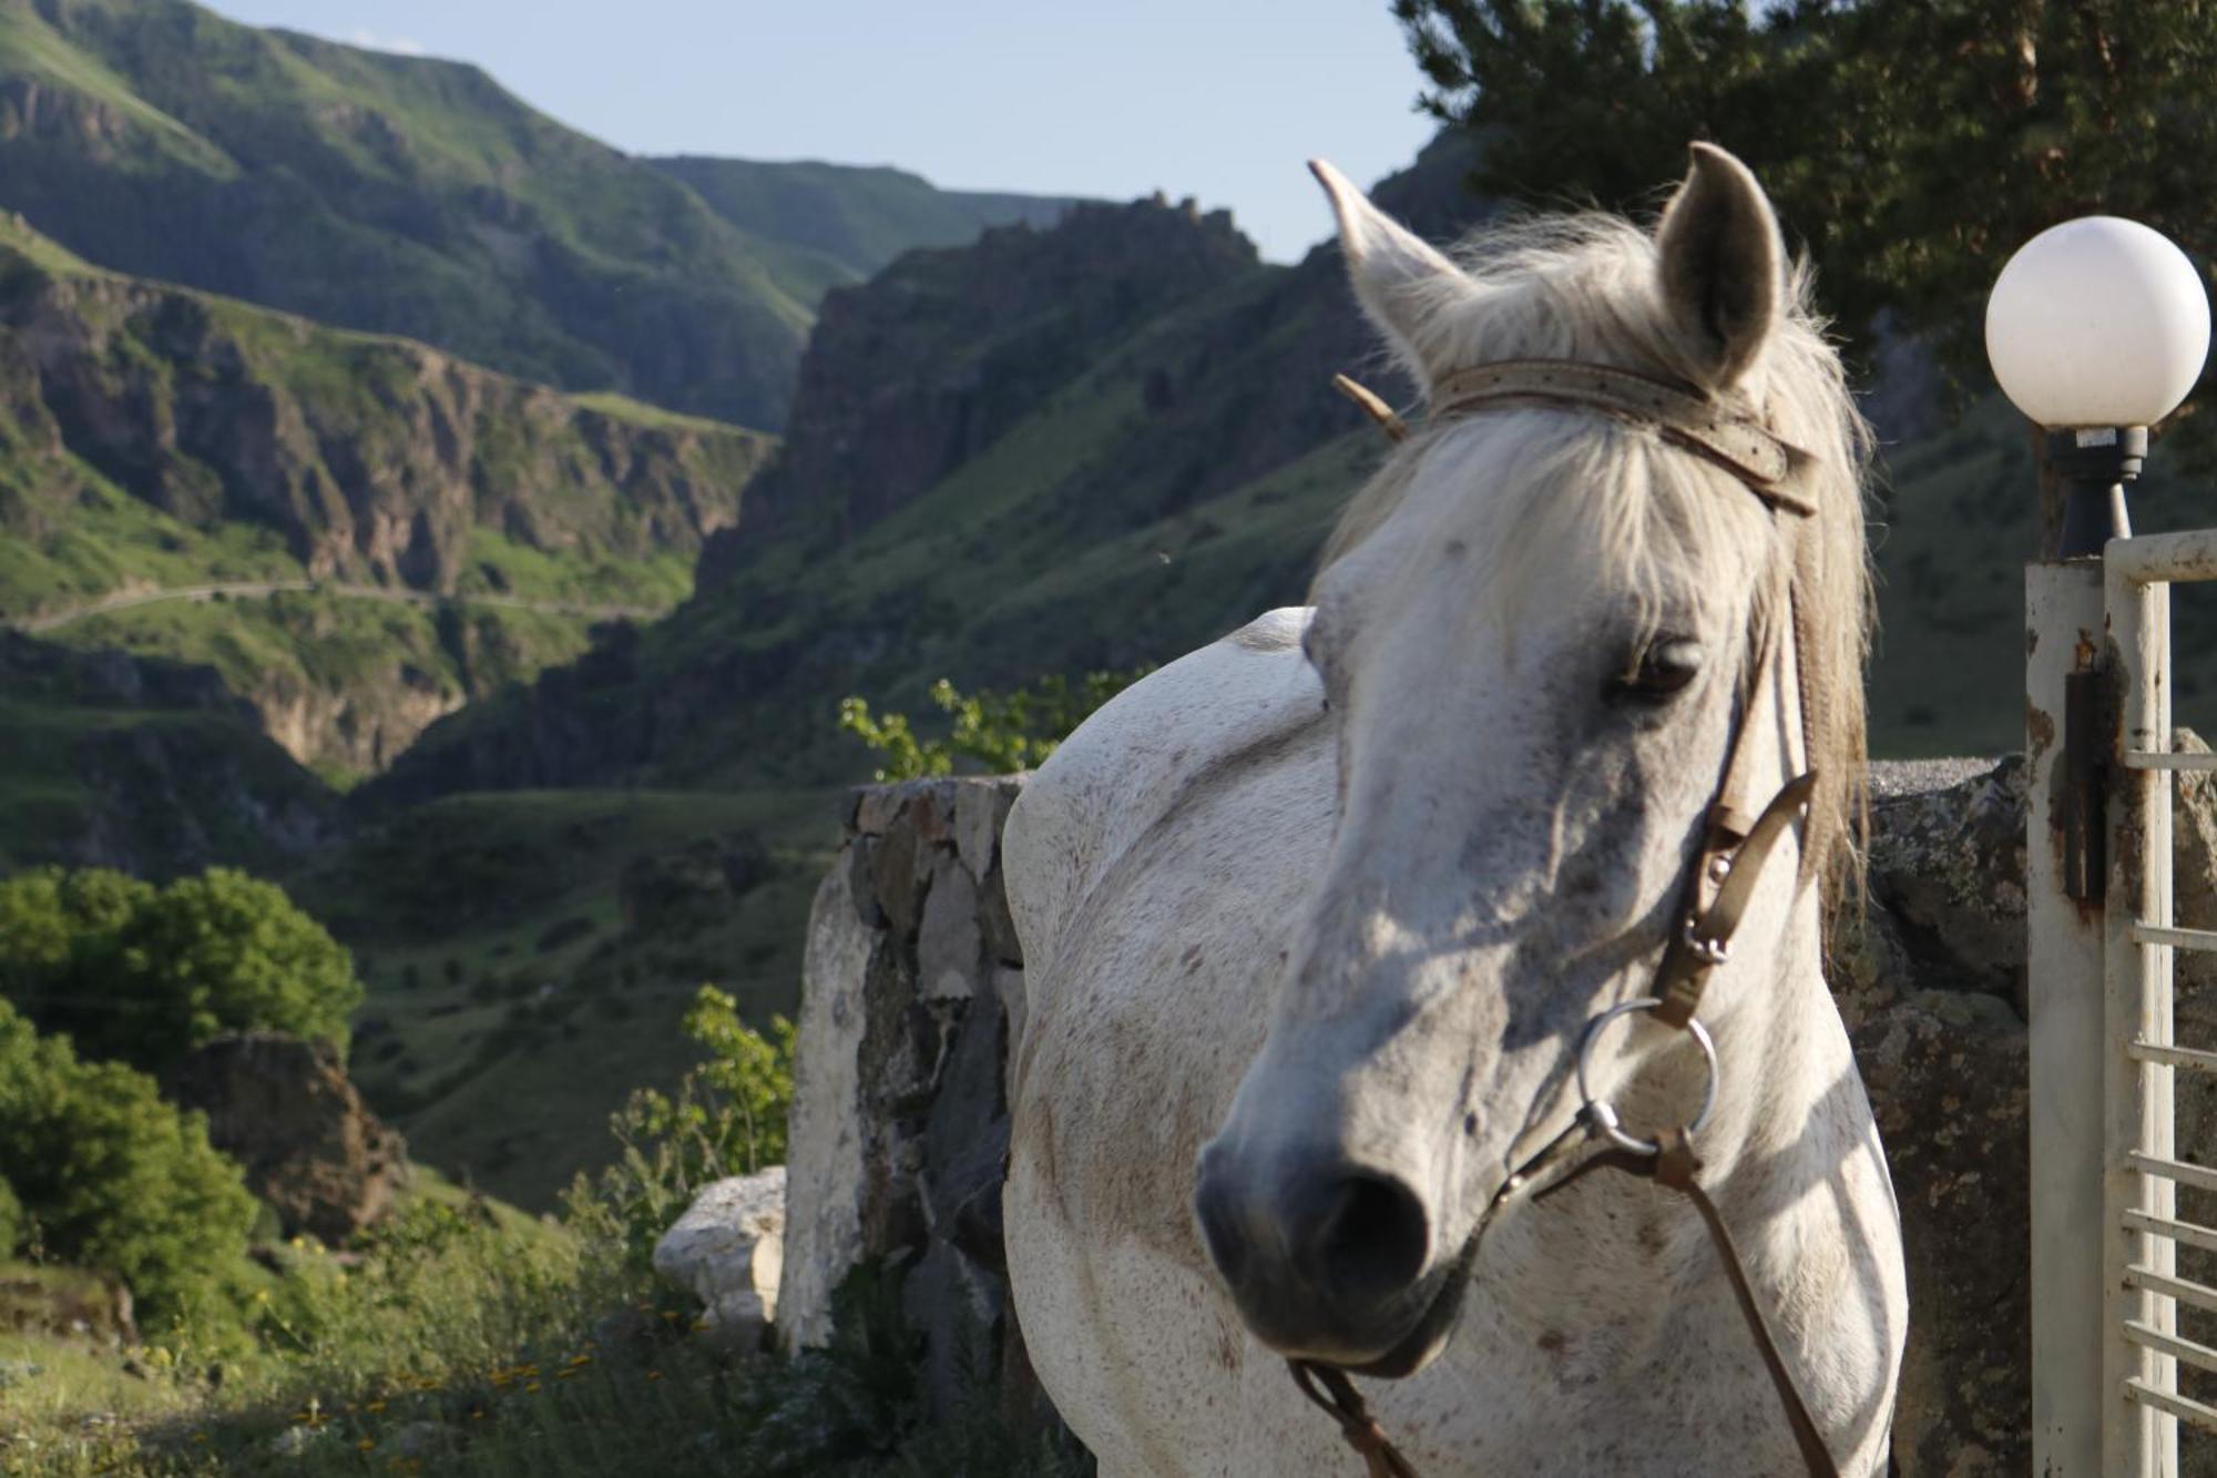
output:
[{"label": "lamp post with white globe on a rusty pale metal post", "polygon": [[[2137,910],[2131,894],[2106,905],[2115,743],[2102,546],[2131,537],[2124,488],[2148,426],[2186,399],[2208,340],[2186,255],[2113,215],[2042,231],[1986,300],[1993,375],[2046,428],[2049,464],[2068,482],[2053,555],[2024,568],[2033,1471],[2049,1478],[2124,1471],[2111,1460],[2126,1438],[2122,1378],[2142,1356],[2124,1343],[2131,1247],[2108,1156],[2113,1105],[2137,1067],[2108,1052],[2122,1012],[2111,939]],[[2150,1436],[2175,1451],[2175,1434]]]}]

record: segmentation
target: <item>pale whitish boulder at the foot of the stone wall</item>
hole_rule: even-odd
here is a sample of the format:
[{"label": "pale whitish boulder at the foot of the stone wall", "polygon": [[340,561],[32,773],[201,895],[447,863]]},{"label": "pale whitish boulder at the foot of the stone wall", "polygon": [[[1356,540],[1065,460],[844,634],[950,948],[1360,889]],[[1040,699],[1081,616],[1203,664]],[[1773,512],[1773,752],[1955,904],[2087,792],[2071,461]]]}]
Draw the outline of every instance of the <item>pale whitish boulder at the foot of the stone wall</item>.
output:
[{"label": "pale whitish boulder at the foot of the stone wall", "polygon": [[654,1243],[654,1272],[703,1303],[709,1338],[760,1349],[785,1272],[785,1165],[705,1185]]}]

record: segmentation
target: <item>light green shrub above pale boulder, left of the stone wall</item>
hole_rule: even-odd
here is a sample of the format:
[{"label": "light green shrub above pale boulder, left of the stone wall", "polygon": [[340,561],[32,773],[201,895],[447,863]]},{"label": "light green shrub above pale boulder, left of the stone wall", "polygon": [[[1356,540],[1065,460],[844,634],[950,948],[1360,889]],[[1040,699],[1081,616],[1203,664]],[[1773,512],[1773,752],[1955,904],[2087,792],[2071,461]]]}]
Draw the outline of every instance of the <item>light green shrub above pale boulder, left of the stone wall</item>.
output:
[{"label": "light green shrub above pale boulder, left of the stone wall", "polygon": [[785,1163],[785,1114],[794,1103],[798,1027],[769,1019],[760,1034],[738,1003],[703,985],[685,1012],[685,1034],[707,1047],[676,1094],[641,1087],[607,1121],[623,1147],[599,1178],[579,1176],[570,1218],[621,1241],[645,1263],[694,1194],[709,1181]]}]

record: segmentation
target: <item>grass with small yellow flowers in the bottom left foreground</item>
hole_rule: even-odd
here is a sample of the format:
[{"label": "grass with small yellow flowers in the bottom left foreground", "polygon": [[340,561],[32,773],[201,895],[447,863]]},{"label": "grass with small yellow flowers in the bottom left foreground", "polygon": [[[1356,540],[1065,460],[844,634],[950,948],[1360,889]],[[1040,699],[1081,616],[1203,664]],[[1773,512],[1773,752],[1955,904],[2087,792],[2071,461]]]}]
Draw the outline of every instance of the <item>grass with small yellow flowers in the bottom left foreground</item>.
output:
[{"label": "grass with small yellow flowers in the bottom left foreground", "polygon": [[106,1349],[0,1334],[0,1467],[200,1474],[1075,1478],[991,1365],[924,1420],[898,1274],[865,1265],[823,1352],[709,1338],[605,1203],[528,1218],[435,1176],[346,1254],[262,1249],[233,1312]]}]

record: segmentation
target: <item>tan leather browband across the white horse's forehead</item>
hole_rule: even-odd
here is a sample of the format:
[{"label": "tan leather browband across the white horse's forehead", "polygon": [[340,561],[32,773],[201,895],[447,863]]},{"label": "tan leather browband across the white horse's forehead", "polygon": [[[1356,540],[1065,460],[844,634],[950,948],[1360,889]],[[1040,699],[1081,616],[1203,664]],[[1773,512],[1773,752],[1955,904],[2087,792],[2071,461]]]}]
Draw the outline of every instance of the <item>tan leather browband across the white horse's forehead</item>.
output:
[{"label": "tan leather browband across the white horse's forehead", "polygon": [[1709,457],[1774,508],[1800,517],[1816,513],[1796,486],[1809,453],[1689,386],[1605,364],[1503,360],[1441,375],[1432,386],[1432,419],[1481,411],[1496,399],[1552,399],[1623,415]]}]

